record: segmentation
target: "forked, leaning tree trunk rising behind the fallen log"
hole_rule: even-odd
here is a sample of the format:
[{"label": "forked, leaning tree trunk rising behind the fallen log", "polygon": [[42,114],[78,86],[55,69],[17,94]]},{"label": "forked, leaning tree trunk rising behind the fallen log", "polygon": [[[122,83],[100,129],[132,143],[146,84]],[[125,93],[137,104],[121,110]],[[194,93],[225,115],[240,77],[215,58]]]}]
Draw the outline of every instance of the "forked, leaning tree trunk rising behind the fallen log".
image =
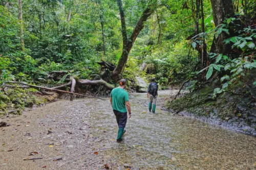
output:
[{"label": "forked, leaning tree trunk rising behind the fallen log", "polygon": [[122,1],[118,0],[118,7],[120,11],[120,18],[121,18],[121,26],[122,26],[122,37],[123,37],[123,51],[122,55],[118,61],[117,67],[114,69],[112,73],[112,77],[114,80],[117,80],[119,78],[120,73],[122,72],[125,63],[127,62],[129,53],[132,49],[132,46],[134,44],[134,41],[136,40],[137,36],[139,35],[140,31],[144,27],[144,22],[147,20],[147,18],[153,13],[152,6],[148,6],[142,13],[139,21],[137,22],[137,25],[135,29],[133,30],[132,35],[130,38],[127,38],[127,32],[126,32],[126,25],[125,25],[125,17],[124,17],[124,11],[122,7]]}]

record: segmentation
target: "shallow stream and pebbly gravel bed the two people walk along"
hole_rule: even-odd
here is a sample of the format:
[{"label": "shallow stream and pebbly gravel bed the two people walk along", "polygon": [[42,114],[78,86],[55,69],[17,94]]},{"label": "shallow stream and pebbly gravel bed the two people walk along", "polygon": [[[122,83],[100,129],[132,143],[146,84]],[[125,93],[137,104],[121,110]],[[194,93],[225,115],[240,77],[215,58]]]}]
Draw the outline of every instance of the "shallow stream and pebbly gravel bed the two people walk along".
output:
[{"label": "shallow stream and pebbly gravel bed the two people walk along", "polygon": [[[159,101],[168,92],[160,91]],[[25,118],[10,118],[12,126],[0,131],[0,144],[5,143],[0,148],[0,168],[256,169],[255,137],[172,115],[160,106],[155,114],[147,112],[145,93],[133,94],[131,104],[132,118],[121,143],[115,141],[118,127],[109,101],[58,101]],[[18,124],[22,128],[15,130]],[[49,129],[53,133],[47,134]],[[15,145],[14,151],[7,151]],[[33,151],[43,159],[24,161]],[[62,159],[53,161],[55,156]]]}]

